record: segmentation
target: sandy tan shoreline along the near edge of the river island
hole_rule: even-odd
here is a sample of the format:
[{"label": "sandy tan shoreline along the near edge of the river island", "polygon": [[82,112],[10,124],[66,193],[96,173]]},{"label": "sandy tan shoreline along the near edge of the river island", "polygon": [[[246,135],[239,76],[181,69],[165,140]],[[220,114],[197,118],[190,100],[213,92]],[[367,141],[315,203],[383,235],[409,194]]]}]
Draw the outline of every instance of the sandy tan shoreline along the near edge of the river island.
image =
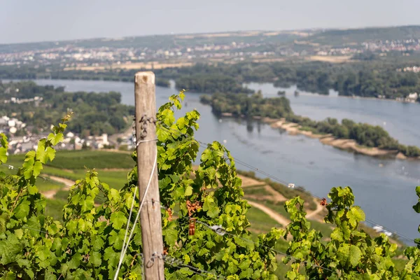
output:
[{"label": "sandy tan shoreline along the near edge of the river island", "polygon": [[311,131],[301,130],[301,126],[297,123],[288,123],[284,118],[282,119],[273,119],[273,118],[255,118],[261,120],[263,123],[267,123],[270,127],[276,129],[281,128],[286,130],[290,135],[302,134],[306,137],[319,139],[322,144],[330,145],[335,148],[339,148],[346,151],[352,151],[354,153],[360,153],[363,155],[369,155],[372,157],[384,157],[384,158],[396,158],[398,160],[419,160],[420,158],[407,158],[402,153],[399,153],[397,150],[385,150],[381,148],[369,148],[360,146],[353,139],[337,139],[332,137],[331,134],[314,134]]}]

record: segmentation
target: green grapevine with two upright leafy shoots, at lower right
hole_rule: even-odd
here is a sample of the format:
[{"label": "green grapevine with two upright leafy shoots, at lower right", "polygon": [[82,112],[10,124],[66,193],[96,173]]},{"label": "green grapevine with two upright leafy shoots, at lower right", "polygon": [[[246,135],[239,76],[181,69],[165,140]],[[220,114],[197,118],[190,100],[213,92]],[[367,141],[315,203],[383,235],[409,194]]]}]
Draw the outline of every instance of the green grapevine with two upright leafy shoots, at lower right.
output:
[{"label": "green grapevine with two upright leafy shoots, at lower right", "polygon": [[[283,258],[283,262],[291,262],[292,267],[304,266],[309,279],[365,279],[363,274],[368,279],[400,279],[400,272],[391,260],[397,245],[391,244],[385,235],[372,239],[358,230],[365,214],[353,206],[351,188],[332,188],[328,197],[331,202],[325,222],[336,228],[326,244],[321,242],[321,232],[310,230],[302,200],[297,197],[286,202],[291,221],[286,232],[293,236],[287,253],[293,258]],[[286,278],[304,279],[294,271],[288,272]]]}]

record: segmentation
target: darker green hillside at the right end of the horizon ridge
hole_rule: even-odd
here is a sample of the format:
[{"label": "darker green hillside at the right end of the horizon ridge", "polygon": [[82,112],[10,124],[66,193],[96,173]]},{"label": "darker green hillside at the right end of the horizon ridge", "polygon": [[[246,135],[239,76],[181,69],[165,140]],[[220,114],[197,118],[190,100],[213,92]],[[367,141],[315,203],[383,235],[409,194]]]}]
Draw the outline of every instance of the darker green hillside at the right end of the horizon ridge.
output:
[{"label": "darker green hillside at the right end of the horizon ridge", "polygon": [[420,25],[401,27],[370,27],[329,29],[305,38],[305,41],[328,45],[344,45],[377,40],[407,40],[420,38]]}]

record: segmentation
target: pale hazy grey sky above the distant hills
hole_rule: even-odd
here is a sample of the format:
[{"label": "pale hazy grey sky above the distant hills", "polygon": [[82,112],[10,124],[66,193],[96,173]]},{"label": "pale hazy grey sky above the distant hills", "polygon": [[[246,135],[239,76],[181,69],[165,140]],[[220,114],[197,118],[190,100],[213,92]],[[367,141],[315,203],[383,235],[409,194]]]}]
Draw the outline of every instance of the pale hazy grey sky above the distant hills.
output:
[{"label": "pale hazy grey sky above the distant hills", "polygon": [[0,43],[420,25],[420,0],[0,0]]}]

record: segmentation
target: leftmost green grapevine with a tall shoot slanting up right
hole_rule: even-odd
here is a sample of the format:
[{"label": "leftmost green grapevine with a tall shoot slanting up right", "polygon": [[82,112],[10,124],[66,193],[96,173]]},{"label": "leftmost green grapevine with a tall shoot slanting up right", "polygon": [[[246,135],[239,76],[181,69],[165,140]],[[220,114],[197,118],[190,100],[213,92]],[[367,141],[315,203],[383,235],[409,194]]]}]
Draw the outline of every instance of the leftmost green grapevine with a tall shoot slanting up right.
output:
[{"label": "leftmost green grapevine with a tall shoot slanting up right", "polygon": [[[36,152],[27,153],[17,175],[0,174],[1,276],[50,279],[54,273],[52,266],[59,256],[51,247],[62,225],[45,216],[45,198],[38,193],[36,178],[43,164],[54,158],[52,146],[61,141],[70,116],[52,128],[48,139],[39,142]],[[6,143],[5,137],[1,142],[2,146]]]}]

